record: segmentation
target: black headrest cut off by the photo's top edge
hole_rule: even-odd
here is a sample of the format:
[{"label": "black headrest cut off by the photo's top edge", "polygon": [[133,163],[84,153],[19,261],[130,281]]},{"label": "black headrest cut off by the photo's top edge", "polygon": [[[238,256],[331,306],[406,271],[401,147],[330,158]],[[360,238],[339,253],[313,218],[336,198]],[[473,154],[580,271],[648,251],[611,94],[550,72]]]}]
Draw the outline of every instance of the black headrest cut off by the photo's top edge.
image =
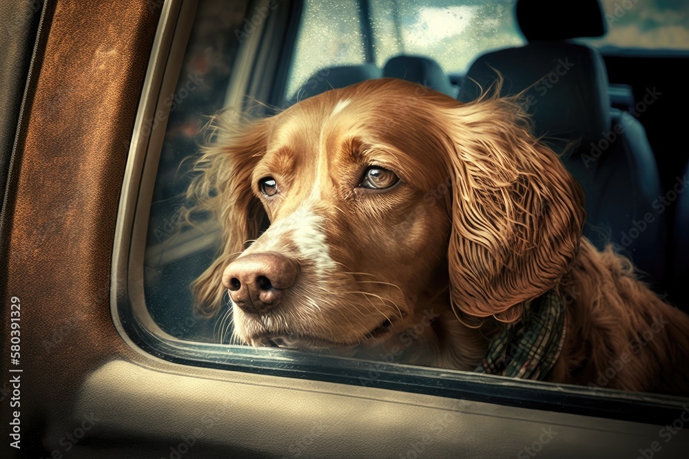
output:
[{"label": "black headrest cut off by the photo's top edge", "polygon": [[527,41],[567,40],[606,33],[598,0],[518,0],[516,13]]}]

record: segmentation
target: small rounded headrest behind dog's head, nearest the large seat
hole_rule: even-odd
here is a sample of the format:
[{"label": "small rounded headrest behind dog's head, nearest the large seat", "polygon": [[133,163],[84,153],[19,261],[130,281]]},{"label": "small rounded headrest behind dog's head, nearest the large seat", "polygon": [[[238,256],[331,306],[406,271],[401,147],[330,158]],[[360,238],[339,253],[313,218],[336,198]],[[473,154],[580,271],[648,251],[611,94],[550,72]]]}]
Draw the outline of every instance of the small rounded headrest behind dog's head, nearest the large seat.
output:
[{"label": "small rounded headrest behind dog's head, nearest the large seat", "polygon": [[383,67],[383,77],[400,78],[429,87],[448,96],[457,92],[440,64],[426,56],[395,56]]}]

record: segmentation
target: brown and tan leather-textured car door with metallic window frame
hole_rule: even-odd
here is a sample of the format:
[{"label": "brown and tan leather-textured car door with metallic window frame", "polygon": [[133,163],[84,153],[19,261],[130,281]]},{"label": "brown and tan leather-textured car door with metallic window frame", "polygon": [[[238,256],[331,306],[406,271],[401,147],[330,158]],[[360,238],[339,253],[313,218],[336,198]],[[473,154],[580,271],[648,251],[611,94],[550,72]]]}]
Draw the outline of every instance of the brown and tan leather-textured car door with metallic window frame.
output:
[{"label": "brown and tan leather-textured car door with metallic window frame", "polygon": [[[180,279],[189,277],[175,277],[177,264],[207,257],[214,230],[174,239],[175,250],[151,248],[174,245],[176,222],[156,213],[165,204],[156,201],[156,180],[170,151],[166,127],[188,128],[170,125],[171,114],[195,100],[192,87],[206,78],[183,72],[187,45],[212,24],[234,35],[221,105],[265,100],[284,85],[302,3],[13,5],[0,10],[3,23],[31,14],[23,41],[5,42],[5,50],[18,47],[2,71],[16,73],[3,95],[16,118],[2,118],[13,136],[2,147],[4,457],[688,451],[683,398],[195,339],[207,324],[176,309],[186,295]],[[154,298],[152,286],[163,296]]]}]

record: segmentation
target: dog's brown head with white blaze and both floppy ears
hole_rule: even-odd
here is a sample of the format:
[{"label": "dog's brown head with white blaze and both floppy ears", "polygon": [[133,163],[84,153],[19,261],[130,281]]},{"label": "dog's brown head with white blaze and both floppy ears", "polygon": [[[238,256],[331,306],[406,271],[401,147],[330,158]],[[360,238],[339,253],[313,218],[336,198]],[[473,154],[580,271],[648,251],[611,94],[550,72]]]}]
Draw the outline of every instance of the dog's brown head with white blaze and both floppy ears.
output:
[{"label": "dog's brown head with white blaze and both floppy ears", "polygon": [[581,188],[515,100],[382,79],[234,131],[192,184],[224,228],[194,291],[207,315],[229,291],[246,343],[380,342],[449,303],[513,321],[575,258]]}]

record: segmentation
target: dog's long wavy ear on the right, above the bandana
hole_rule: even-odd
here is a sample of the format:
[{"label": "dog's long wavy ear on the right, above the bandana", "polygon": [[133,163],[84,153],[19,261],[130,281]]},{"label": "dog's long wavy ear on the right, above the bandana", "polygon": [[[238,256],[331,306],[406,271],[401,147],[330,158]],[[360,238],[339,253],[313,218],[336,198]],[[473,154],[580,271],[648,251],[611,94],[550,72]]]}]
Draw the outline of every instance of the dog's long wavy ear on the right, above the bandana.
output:
[{"label": "dog's long wavy ear on the right, above the bandana", "polygon": [[516,99],[480,98],[449,110],[446,122],[453,306],[515,321],[522,302],[570,269],[586,217],[582,187],[531,135]]}]

